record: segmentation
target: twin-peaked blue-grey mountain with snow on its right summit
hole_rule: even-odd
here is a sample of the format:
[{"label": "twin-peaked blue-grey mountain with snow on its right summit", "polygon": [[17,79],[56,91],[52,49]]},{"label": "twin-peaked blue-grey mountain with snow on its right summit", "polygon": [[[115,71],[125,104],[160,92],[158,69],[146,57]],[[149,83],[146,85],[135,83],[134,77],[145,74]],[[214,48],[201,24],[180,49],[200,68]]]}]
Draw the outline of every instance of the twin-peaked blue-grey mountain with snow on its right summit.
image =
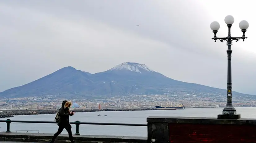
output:
[{"label": "twin-peaked blue-grey mountain with snow on its right summit", "polygon": [[[139,63],[121,63],[107,71],[91,74],[64,67],[31,83],[8,89],[0,97],[56,95],[59,97],[125,96],[170,93],[226,94],[226,90],[174,80]],[[236,95],[245,95],[242,93]]]}]

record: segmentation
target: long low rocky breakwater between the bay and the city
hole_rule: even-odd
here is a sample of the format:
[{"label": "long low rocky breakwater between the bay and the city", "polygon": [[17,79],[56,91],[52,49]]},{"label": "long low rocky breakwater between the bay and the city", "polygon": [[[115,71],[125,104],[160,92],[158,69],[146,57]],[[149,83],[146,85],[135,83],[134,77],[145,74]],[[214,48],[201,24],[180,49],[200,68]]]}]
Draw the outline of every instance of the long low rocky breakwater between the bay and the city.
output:
[{"label": "long low rocky breakwater between the bay and the city", "polygon": [[[108,109],[70,109],[74,112],[104,112],[104,111],[143,111],[157,110],[156,108],[108,108]],[[0,118],[9,118],[17,115],[38,115],[38,114],[56,114],[57,109],[13,109],[0,110]]]}]

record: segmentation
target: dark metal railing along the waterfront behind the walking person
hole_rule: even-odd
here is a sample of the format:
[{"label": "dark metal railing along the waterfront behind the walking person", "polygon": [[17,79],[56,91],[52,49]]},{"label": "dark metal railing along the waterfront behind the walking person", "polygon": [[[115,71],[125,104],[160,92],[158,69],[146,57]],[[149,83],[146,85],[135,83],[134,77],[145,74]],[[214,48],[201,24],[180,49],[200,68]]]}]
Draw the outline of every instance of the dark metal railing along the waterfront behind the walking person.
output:
[{"label": "dark metal railing along the waterfront behind the walking person", "polygon": [[[43,123],[43,124],[57,124],[55,121],[15,121],[15,120],[0,120],[0,122],[7,123],[6,133],[11,133],[10,131],[10,123]],[[75,135],[80,135],[79,133],[79,125],[116,125],[116,126],[148,126],[147,124],[126,124],[126,123],[96,123],[96,122],[70,122],[70,124],[76,125],[76,133]]]}]

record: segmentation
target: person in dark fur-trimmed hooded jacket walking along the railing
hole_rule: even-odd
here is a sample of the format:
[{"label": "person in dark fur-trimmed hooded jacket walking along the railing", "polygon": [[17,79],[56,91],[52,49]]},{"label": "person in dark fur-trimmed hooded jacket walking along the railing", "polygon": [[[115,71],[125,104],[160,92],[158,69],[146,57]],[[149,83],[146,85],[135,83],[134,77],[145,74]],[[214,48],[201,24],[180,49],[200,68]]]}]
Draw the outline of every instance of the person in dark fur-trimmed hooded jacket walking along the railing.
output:
[{"label": "person in dark fur-trimmed hooded jacket walking along the railing", "polygon": [[54,143],[56,137],[63,131],[63,129],[66,129],[68,132],[68,137],[71,143],[74,143],[72,131],[71,131],[71,125],[69,123],[69,116],[73,116],[75,112],[69,112],[69,108],[71,106],[72,102],[64,100],[62,102],[61,108],[59,109],[55,121],[58,123],[59,129],[57,133],[55,133],[49,143]]}]

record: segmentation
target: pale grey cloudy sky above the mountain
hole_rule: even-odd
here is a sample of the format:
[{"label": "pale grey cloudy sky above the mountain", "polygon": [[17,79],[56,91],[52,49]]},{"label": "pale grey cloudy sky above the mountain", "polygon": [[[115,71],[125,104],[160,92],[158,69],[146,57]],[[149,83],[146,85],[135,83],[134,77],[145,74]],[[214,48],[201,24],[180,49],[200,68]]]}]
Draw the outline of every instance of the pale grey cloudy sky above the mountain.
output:
[{"label": "pale grey cloudy sky above the mountain", "polygon": [[232,46],[233,91],[256,95],[255,12],[251,0],[1,0],[0,92],[62,67],[96,73],[123,62],[225,89],[227,46],[211,39],[210,23],[225,37],[232,15],[234,37],[249,22],[248,39]]}]

